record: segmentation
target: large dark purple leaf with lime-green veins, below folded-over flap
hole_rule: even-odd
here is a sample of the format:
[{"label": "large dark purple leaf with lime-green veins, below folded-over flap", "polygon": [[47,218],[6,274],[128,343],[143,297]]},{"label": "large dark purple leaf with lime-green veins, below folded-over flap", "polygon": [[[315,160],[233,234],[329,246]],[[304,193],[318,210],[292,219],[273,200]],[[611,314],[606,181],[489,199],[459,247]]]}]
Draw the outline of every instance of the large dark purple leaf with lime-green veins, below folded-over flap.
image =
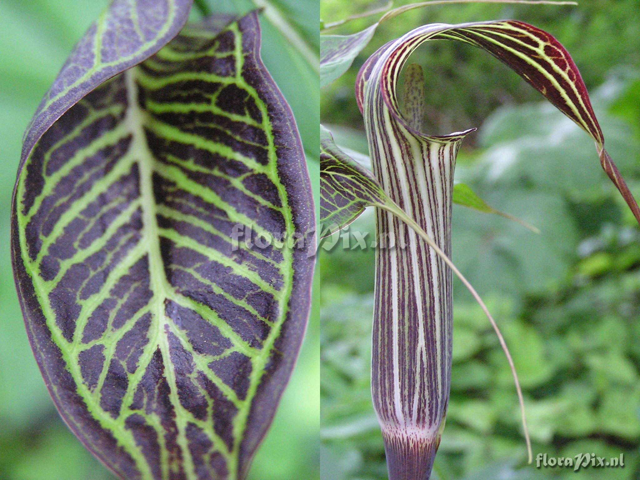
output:
[{"label": "large dark purple leaf with lime-green veins, below folded-over flap", "polygon": [[122,479],[246,477],[307,322],[300,137],[257,13],[228,21],[94,84],[18,174],[13,265],[36,360]]}]

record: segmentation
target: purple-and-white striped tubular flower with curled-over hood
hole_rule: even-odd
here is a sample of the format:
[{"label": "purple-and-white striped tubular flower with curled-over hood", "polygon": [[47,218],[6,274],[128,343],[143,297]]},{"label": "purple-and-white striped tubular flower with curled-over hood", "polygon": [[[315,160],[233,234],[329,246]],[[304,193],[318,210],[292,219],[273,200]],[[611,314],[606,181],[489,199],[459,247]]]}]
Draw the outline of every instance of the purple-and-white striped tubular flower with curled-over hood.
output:
[{"label": "purple-and-white striped tubular flower with curled-over hood", "polygon": [[[416,122],[401,112],[396,92],[405,61],[431,39],[462,40],[490,52],[587,131],[605,171],[640,221],[634,198],[604,150],[602,131],[577,67],[555,38],[516,21],[431,24],[372,55],[358,74],[356,97],[364,115],[374,177],[447,256],[456,152],[468,131],[440,137],[420,132]],[[390,480],[428,478],[449,401],[451,271],[433,248],[416,241],[406,222],[380,209],[376,220],[378,239],[399,248],[378,250],[376,256],[374,407],[385,439]],[[531,462],[528,438],[527,446]]]}]

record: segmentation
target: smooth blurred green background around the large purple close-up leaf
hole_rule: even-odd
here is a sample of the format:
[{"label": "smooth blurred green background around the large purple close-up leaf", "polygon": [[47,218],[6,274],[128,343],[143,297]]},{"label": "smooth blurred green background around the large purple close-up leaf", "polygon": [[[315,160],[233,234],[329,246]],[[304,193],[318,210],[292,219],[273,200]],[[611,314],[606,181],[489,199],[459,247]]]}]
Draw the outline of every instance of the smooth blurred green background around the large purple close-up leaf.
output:
[{"label": "smooth blurred green background around the large purple close-up leaf", "polygon": [[[262,2],[261,2],[262,3]],[[58,417],[29,349],[13,286],[9,218],[22,134],[74,44],[108,0],[0,0],[0,480],[113,480]],[[214,12],[246,13],[250,0],[209,0]],[[317,0],[278,0],[278,11],[317,51]],[[193,14],[198,18],[196,13]],[[264,61],[294,109],[318,184],[318,81],[314,68],[264,15]],[[317,291],[317,289],[316,289]],[[290,387],[250,479],[318,478],[317,302]]]}]

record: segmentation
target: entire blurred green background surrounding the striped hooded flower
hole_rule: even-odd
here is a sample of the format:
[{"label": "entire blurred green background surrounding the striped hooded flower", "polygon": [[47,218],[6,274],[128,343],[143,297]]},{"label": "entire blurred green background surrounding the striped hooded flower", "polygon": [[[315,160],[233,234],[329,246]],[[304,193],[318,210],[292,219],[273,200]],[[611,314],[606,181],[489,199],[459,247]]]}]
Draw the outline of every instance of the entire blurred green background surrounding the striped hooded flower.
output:
[{"label": "entire blurred green background surrounding the striped hooded flower", "polygon": [[[333,22],[383,2],[321,0]],[[395,2],[395,6],[409,3]],[[379,17],[331,33],[353,33]],[[367,152],[353,97],[360,65],[380,45],[429,22],[518,19],[552,33],[591,92],[607,150],[640,198],[640,2],[580,6],[458,4],[383,24],[353,67],[323,89],[323,123]],[[454,351],[438,480],[640,479],[640,230],[600,168],[593,141],[488,54],[429,42],[428,132],[468,127],[456,179],[493,207],[540,228],[454,206],[453,260],[502,328],[524,388],[534,456],[625,455],[625,468],[525,466],[518,402],[497,339],[454,280]],[[351,231],[374,232],[371,211]],[[355,244],[355,243],[353,243]],[[385,480],[369,392],[374,252],[321,253],[321,479]]]}]

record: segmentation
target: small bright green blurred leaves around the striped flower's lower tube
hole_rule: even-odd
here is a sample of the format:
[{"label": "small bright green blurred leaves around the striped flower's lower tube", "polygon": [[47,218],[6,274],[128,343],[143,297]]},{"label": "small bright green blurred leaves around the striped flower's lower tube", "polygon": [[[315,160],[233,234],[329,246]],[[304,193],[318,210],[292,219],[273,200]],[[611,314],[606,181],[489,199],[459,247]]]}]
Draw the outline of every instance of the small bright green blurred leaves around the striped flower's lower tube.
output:
[{"label": "small bright green blurred leaves around the striped flower's lower tube", "polygon": [[[364,221],[356,220],[354,228],[362,226],[358,223]],[[591,237],[603,242],[602,250],[577,260],[573,275],[540,297],[527,295],[518,305],[509,294],[493,291],[487,303],[518,369],[534,454],[624,453],[627,467],[607,470],[604,478],[634,480],[640,472],[640,248],[620,238],[625,232],[619,228],[609,242],[607,234]],[[632,256],[636,267],[612,267],[596,278],[581,272],[585,262],[605,252]],[[321,259],[323,465],[339,468],[323,478],[384,480],[383,445],[369,392],[372,294],[333,282],[334,257],[341,256]],[[485,276],[499,273],[488,270]],[[524,466],[508,364],[481,310],[460,296],[454,308],[453,362],[451,404],[436,457],[443,475],[435,478],[493,479],[490,472],[496,468],[518,479],[603,478],[596,470],[556,476]]]}]

